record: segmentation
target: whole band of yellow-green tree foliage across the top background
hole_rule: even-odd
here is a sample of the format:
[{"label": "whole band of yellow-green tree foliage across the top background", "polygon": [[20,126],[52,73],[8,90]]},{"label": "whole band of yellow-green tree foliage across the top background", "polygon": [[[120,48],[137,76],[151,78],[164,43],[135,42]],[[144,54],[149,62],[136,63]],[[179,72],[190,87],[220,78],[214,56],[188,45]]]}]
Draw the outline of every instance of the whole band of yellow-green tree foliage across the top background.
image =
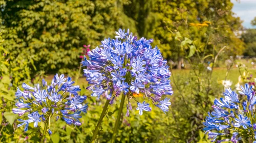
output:
[{"label": "whole band of yellow-green tree foliage across the top background", "polygon": [[212,49],[208,42],[228,46],[230,54],[243,49],[234,35],[241,20],[233,16],[230,1],[1,0],[0,5],[3,46],[10,51],[10,60],[26,54],[34,74],[72,73],[79,66],[83,44],[94,48],[114,37],[118,28],[153,38],[164,57],[173,61],[184,58],[177,32],[191,39],[202,55]]}]

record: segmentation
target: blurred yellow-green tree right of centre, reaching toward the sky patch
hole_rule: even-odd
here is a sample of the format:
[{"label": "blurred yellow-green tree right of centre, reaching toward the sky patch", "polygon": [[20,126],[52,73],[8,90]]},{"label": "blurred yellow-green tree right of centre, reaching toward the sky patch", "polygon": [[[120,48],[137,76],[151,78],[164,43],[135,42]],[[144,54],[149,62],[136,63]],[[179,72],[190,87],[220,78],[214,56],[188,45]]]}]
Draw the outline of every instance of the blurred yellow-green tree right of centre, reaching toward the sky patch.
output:
[{"label": "blurred yellow-green tree right of centre, reaching toward the sky patch", "polygon": [[[242,52],[243,42],[234,35],[241,28],[241,20],[233,17],[232,6],[230,1],[132,1],[124,12],[137,22],[137,31],[143,31],[139,36],[154,38],[165,58],[178,61],[184,58],[184,51],[175,40],[175,31],[192,39],[201,51],[212,49],[206,44],[210,37],[221,46],[228,46],[230,53]],[[190,25],[204,21],[209,21],[211,28],[203,30]]]}]

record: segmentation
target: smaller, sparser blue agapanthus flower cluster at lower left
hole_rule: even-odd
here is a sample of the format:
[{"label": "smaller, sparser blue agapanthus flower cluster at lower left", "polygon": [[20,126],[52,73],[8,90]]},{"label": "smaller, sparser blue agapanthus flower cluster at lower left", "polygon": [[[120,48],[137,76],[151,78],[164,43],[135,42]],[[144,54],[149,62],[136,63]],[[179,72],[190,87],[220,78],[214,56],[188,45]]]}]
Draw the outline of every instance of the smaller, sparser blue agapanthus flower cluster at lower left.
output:
[{"label": "smaller, sparser blue agapanthus flower cluster at lower left", "polygon": [[88,108],[88,105],[83,103],[87,96],[79,96],[80,88],[73,84],[71,77],[65,78],[63,74],[56,74],[50,85],[45,79],[42,79],[42,86],[36,84],[34,88],[23,83],[22,88],[25,90],[17,89],[17,108],[12,111],[19,116],[27,115],[28,119],[18,119],[22,122],[18,127],[25,125],[24,131],[27,131],[29,123],[33,122],[34,127],[37,127],[38,122],[45,122],[51,134],[48,123],[53,117],[56,121],[62,118],[69,125],[80,126],[81,112],[86,113]]}]

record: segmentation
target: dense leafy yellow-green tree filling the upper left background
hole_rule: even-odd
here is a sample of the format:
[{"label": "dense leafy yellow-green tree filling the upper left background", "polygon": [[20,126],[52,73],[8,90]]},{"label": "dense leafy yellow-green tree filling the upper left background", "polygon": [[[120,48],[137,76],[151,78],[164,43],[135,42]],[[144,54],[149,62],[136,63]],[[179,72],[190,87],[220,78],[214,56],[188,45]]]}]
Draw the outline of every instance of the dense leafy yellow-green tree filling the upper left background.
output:
[{"label": "dense leafy yellow-green tree filling the upper left background", "polygon": [[0,1],[3,46],[14,60],[26,51],[32,73],[71,73],[79,66],[83,44],[96,47],[119,27],[133,27],[122,13],[124,2]]}]

